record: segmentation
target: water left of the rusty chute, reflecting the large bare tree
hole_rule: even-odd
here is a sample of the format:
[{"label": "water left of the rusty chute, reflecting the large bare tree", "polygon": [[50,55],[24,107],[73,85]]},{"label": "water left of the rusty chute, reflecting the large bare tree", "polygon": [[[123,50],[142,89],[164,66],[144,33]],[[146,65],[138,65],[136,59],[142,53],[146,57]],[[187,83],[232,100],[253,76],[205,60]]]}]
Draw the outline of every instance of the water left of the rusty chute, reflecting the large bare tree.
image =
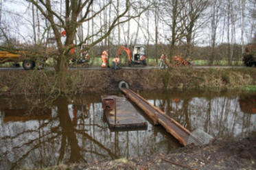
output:
[{"label": "water left of the rusty chute, reflecting the large bare tree", "polygon": [[43,168],[158,151],[167,154],[180,147],[161,127],[110,132],[102,121],[100,97],[76,97],[71,102],[58,99],[43,114],[43,110],[27,114],[25,104],[12,108],[12,114],[4,103],[0,102],[0,169]]}]

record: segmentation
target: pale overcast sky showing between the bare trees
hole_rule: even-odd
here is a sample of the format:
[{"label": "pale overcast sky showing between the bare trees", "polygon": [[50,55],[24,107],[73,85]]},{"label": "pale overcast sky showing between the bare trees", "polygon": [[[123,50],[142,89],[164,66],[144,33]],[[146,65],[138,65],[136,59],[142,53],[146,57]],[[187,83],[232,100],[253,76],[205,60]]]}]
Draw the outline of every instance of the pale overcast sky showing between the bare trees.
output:
[{"label": "pale overcast sky showing between the bare trees", "polygon": [[[32,29],[32,12],[31,8],[28,8],[29,5],[23,0],[2,0],[2,27],[4,25],[8,25],[8,32],[9,34],[19,39],[21,42],[32,42],[33,40],[33,29]],[[114,10],[113,10],[114,12]],[[207,13],[209,13],[210,10],[206,10],[204,13],[204,17],[207,17]],[[139,34],[137,38],[137,44],[143,44],[147,43],[148,39],[150,40],[150,44],[154,44],[154,34],[155,34],[155,25],[154,25],[154,15],[150,14],[149,23],[147,23],[146,19],[147,13],[144,13],[141,16],[141,19],[139,20]],[[43,17],[42,17],[43,19]],[[45,21],[41,20],[41,23],[44,23]],[[97,29],[97,25],[100,25],[99,16],[97,19],[94,20],[94,27]],[[218,44],[227,42],[227,27],[226,25],[222,24],[225,21],[222,19],[220,20],[220,27],[218,27],[217,30],[217,42]],[[233,29],[233,32],[235,32],[235,36],[233,38],[233,42],[241,43],[241,22],[242,20],[237,17],[237,21],[235,24],[235,27]],[[250,40],[250,34],[251,29],[249,29],[251,22],[256,23],[255,21],[246,20],[245,27],[246,32],[244,33],[244,40],[245,42],[249,42]],[[209,45],[209,37],[210,30],[211,30],[211,21],[205,20],[203,23],[204,27],[200,28],[196,31],[195,36],[195,44],[199,46],[207,46]],[[147,25],[149,25],[149,37],[147,34]],[[84,36],[86,36],[87,33],[87,24],[84,23]],[[137,26],[138,23],[135,20],[130,21],[130,38],[135,38],[136,32],[137,32]],[[89,25],[91,27],[91,25]],[[125,23],[121,25],[121,43],[125,44],[127,42],[127,32],[128,32],[128,23]],[[231,30],[232,31],[232,30]],[[92,30],[90,28],[90,34]],[[43,33],[43,29],[41,29],[41,34]],[[167,44],[167,38],[170,37],[170,27],[167,27],[165,23],[159,22],[159,42],[163,44]],[[117,43],[117,28],[113,30],[113,32],[110,35],[111,40],[113,40],[113,43]]]}]

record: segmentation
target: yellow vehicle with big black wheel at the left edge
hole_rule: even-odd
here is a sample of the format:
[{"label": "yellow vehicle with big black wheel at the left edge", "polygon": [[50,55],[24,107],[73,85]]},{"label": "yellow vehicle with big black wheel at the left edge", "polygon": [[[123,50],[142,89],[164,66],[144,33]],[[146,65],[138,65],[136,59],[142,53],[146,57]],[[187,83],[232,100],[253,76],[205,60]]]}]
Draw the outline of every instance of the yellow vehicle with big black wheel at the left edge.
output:
[{"label": "yellow vehicle with big black wheel at the left edge", "polygon": [[43,69],[43,64],[47,58],[43,58],[38,62],[36,58],[30,58],[26,55],[26,52],[19,51],[19,53],[10,53],[8,51],[0,51],[0,63],[14,62],[16,66],[19,66],[18,62],[22,62],[23,69],[34,69],[37,64],[38,69]]}]

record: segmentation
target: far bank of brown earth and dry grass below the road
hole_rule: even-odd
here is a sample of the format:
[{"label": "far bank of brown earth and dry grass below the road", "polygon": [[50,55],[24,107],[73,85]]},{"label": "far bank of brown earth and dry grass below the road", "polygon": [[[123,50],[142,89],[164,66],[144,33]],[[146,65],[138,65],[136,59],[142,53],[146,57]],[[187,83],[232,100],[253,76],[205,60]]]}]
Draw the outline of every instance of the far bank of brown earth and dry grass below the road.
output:
[{"label": "far bank of brown earth and dry grass below the road", "polygon": [[[30,95],[56,92],[54,71],[1,71],[1,95]],[[163,88],[255,89],[256,69],[193,69],[167,70],[74,70],[67,75],[69,93],[104,93],[115,91],[124,80],[133,90]]]}]

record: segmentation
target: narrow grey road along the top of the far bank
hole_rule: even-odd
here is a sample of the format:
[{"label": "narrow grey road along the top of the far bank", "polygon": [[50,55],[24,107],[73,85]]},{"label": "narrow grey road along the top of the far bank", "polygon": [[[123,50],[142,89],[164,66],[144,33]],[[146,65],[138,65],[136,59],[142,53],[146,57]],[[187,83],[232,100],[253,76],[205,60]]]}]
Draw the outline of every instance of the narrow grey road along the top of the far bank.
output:
[{"label": "narrow grey road along the top of the far bank", "polygon": [[[185,67],[185,66],[183,66]],[[190,66],[187,66],[190,67]],[[240,69],[244,68],[244,66],[192,66],[194,69]],[[107,70],[108,68],[100,68],[100,66],[96,67],[70,67],[70,70]],[[122,66],[121,69],[159,69],[159,66]],[[21,71],[23,67],[0,67],[0,71]],[[54,70],[52,67],[46,67],[45,70],[51,71]]]}]

